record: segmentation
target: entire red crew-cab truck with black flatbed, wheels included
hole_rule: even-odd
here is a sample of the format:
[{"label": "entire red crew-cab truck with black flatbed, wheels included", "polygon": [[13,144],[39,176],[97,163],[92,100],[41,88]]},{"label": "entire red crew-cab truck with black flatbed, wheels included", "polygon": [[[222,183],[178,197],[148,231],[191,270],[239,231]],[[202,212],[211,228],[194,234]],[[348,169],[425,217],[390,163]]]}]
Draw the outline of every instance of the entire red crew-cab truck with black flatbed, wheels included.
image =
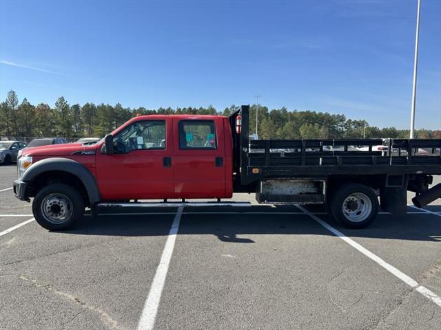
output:
[{"label": "entire red crew-cab truck with black flatbed, wheels included", "polygon": [[[68,228],[85,207],[212,198],[224,205],[233,192],[255,192],[260,203],[324,203],[342,225],[363,228],[379,204],[406,212],[407,190],[418,207],[441,197],[441,185],[429,189],[441,174],[441,140],[389,140],[384,155],[372,151],[380,139],[249,140],[248,127],[249,106],[229,117],[141,115],[96,144],[26,148],[14,194],[33,197],[34,217],[49,230]],[[418,148],[432,153],[416,155]]]}]

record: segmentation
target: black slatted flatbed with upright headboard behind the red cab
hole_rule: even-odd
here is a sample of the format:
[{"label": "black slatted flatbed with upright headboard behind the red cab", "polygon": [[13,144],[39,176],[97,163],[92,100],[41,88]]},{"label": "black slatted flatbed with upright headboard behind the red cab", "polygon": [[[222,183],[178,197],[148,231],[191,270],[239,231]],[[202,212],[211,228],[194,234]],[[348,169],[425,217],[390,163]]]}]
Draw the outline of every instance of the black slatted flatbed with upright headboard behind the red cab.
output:
[{"label": "black slatted flatbed with upright headboard behind the red cab", "polygon": [[[236,133],[236,116],[242,131]],[[235,172],[243,185],[261,178],[306,175],[441,174],[441,140],[251,140],[249,106],[232,113]],[[373,146],[384,146],[373,150]],[[363,151],[360,151],[363,148]],[[239,160],[238,160],[239,159]]]}]

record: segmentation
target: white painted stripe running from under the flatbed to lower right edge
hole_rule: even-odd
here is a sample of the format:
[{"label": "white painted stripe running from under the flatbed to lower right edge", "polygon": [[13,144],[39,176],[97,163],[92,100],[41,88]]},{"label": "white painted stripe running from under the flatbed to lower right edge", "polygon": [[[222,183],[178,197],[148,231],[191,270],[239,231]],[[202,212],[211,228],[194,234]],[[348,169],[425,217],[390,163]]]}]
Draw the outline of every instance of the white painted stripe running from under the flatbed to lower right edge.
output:
[{"label": "white painted stripe running from under the flatbed to lower right edge", "polygon": [[312,214],[311,212],[309,212],[305,208],[302,208],[302,206],[297,206],[297,207],[300,208],[300,210],[302,210],[303,212],[305,212],[305,214],[309,215],[309,217],[311,217],[312,219],[314,219],[315,221],[320,223],[320,225],[322,225],[327,230],[329,230],[334,235],[336,235],[339,239],[342,239],[343,241],[345,241],[346,243],[351,245],[353,248],[355,248],[356,250],[358,250],[362,254],[365,254],[365,256],[367,256],[372,261],[375,261],[376,263],[378,263],[378,265],[383,267],[389,273],[400,278],[400,280],[403,281],[404,283],[406,283],[407,285],[409,285],[409,287],[416,289],[416,291],[420,292],[420,294],[422,294],[426,298],[429,298],[430,300],[433,301],[433,303],[435,303],[436,305],[441,307],[441,297],[440,296],[437,296],[435,293],[431,292],[429,289],[427,289],[427,287],[420,285],[413,278],[411,278],[410,276],[407,276],[406,274],[404,274],[403,272],[398,270],[396,267],[393,267],[393,265],[387,263],[386,261],[381,259],[376,254],[373,254],[371,251],[367,250],[367,248],[364,248],[362,245],[358,244],[356,241],[349,239],[348,236],[346,236],[342,232],[336,230],[336,228],[332,227],[331,225],[329,225],[328,223],[326,223],[325,221],[323,221],[322,219],[320,219],[316,215]]}]

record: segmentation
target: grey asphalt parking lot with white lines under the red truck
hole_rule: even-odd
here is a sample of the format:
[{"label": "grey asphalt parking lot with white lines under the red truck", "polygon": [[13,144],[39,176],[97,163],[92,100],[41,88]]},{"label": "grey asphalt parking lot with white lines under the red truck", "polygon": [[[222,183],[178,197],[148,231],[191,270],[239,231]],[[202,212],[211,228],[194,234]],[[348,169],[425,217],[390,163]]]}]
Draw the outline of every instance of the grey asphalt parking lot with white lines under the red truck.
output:
[{"label": "grey asphalt parking lot with white lines under the red truck", "polygon": [[254,205],[105,210],[48,232],[15,177],[0,166],[1,329],[441,329],[440,201],[365,230]]}]

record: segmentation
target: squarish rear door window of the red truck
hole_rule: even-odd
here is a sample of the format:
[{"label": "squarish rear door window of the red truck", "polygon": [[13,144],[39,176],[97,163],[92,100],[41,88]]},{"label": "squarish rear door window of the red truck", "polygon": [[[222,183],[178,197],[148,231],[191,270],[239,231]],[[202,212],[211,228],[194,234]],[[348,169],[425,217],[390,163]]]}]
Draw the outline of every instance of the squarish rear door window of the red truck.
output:
[{"label": "squarish rear door window of the red truck", "polygon": [[181,120],[179,148],[216,149],[216,127],[212,120]]}]

